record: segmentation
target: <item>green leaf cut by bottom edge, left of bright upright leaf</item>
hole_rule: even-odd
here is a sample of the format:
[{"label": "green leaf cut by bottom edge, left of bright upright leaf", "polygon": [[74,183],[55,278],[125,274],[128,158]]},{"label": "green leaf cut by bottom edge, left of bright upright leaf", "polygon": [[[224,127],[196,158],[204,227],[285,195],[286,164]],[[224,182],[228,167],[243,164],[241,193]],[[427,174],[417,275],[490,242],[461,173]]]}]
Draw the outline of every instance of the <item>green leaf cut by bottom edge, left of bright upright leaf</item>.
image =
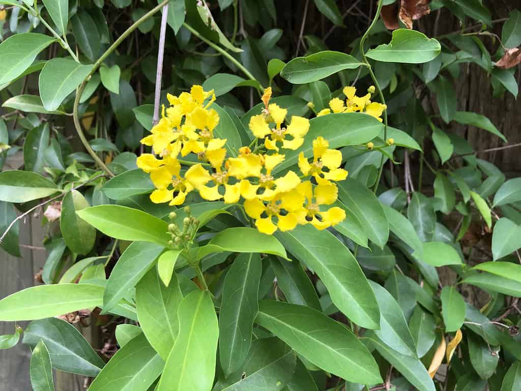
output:
[{"label": "green leaf cut by bottom edge, left of bright upright leaf", "polygon": [[163,366],[163,359],[140,334],[116,352],[89,386],[89,391],[147,390]]}]

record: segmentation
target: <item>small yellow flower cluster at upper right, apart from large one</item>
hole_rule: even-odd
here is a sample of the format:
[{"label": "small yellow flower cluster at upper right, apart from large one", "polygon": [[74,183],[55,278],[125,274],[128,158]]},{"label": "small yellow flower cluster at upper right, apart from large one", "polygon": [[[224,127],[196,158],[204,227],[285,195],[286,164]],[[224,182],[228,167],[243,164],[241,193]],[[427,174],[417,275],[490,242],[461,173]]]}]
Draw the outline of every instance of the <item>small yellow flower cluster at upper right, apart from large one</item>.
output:
[{"label": "small yellow flower cluster at upper right, apart from large one", "polygon": [[371,85],[364,96],[356,96],[356,88],[347,86],[342,92],[345,95],[345,102],[336,97],[329,101],[329,108],[324,108],[318,112],[317,117],[330,113],[366,113],[375,117],[380,122],[383,111],[387,108],[386,105],[371,102],[371,94],[375,92],[375,87]]}]

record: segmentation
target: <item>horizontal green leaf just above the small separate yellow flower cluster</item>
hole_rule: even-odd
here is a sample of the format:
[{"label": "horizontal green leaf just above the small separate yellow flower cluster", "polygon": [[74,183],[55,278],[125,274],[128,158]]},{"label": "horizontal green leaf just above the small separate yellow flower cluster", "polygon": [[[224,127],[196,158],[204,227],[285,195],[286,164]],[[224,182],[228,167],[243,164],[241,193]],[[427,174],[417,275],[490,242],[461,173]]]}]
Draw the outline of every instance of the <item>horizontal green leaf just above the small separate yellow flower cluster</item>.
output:
[{"label": "horizontal green leaf just above the small separate yellow flower cluster", "polygon": [[363,64],[341,52],[324,51],[306,57],[293,58],[280,76],[292,84],[305,84],[324,79],[344,69],[356,69]]}]

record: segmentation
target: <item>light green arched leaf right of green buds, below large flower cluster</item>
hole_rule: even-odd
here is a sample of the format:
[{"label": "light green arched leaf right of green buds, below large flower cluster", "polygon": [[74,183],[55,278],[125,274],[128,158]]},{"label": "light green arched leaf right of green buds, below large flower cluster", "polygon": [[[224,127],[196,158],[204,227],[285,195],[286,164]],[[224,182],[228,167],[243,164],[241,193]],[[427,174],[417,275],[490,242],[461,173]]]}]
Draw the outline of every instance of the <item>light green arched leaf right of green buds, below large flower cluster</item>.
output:
[{"label": "light green arched leaf right of green buds, below large flower cluster", "polygon": [[[241,238],[241,240],[237,240],[237,238]],[[287,259],[286,250],[274,236],[262,234],[255,228],[247,227],[227,228],[220,231],[206,246],[199,248],[197,258],[202,259],[212,252],[221,251],[263,252]]]}]

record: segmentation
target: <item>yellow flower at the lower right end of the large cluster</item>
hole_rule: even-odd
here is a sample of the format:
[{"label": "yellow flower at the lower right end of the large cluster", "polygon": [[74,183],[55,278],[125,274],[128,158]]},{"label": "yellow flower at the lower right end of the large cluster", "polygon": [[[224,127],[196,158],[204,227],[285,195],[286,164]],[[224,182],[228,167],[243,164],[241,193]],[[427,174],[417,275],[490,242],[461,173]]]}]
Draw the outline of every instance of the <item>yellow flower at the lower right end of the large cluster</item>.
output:
[{"label": "yellow flower at the lower right end of the large cluster", "polygon": [[297,186],[296,190],[306,199],[304,208],[299,211],[299,224],[311,224],[322,230],[340,223],[345,218],[345,211],[338,206],[320,211],[320,205],[330,205],[337,200],[336,185],[318,185],[313,189],[311,182],[305,181]]}]

